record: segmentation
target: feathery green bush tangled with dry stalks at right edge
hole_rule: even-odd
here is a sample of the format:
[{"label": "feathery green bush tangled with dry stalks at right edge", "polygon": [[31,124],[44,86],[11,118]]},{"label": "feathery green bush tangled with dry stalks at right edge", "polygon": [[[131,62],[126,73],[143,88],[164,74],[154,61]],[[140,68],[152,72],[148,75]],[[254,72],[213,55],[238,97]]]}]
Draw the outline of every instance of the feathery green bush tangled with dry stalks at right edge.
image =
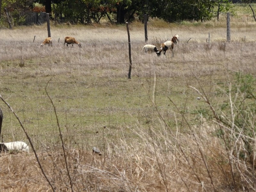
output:
[{"label": "feathery green bush tangled with dry stalks at right edge", "polygon": [[[197,114],[207,119],[219,122],[220,128],[215,136],[224,139],[226,146],[231,149],[236,142],[243,143],[244,151],[238,155],[249,157],[255,152],[256,132],[256,78],[251,74],[235,73],[235,82],[223,84],[218,90],[226,96],[226,100],[219,105],[216,113],[207,113],[207,110],[197,110]],[[206,111],[206,112],[205,112]],[[234,152],[235,153],[235,152]]]}]

